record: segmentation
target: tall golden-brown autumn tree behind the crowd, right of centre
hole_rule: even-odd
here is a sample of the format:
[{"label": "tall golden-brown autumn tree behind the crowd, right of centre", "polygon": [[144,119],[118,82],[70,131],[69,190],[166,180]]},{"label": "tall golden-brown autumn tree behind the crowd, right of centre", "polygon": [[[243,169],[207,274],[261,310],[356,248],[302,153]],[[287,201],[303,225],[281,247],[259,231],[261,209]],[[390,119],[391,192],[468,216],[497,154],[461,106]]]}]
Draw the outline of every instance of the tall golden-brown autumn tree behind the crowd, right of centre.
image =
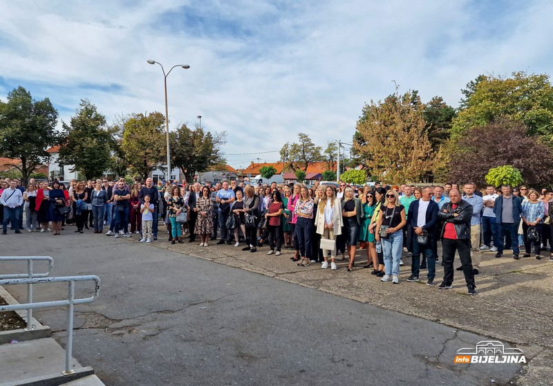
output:
[{"label": "tall golden-brown autumn tree behind the crowd, right of centre", "polygon": [[412,92],[396,91],[384,102],[371,100],[365,105],[363,119],[357,122],[364,145],[356,142],[354,147],[365,158],[371,176],[386,182],[422,181],[431,160],[423,109]]}]

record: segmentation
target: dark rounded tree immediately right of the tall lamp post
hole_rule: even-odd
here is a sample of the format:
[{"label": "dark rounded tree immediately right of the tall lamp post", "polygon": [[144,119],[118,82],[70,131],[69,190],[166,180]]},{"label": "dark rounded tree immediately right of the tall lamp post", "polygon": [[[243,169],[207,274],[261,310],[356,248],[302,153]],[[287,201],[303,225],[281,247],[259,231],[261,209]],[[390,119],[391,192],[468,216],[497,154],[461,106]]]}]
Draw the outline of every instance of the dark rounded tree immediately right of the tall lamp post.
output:
[{"label": "dark rounded tree immediately right of the tall lamp post", "polygon": [[225,131],[212,134],[198,125],[194,129],[180,125],[170,134],[171,163],[182,170],[186,181],[194,181],[197,172],[225,164],[221,147],[227,143],[226,138]]}]

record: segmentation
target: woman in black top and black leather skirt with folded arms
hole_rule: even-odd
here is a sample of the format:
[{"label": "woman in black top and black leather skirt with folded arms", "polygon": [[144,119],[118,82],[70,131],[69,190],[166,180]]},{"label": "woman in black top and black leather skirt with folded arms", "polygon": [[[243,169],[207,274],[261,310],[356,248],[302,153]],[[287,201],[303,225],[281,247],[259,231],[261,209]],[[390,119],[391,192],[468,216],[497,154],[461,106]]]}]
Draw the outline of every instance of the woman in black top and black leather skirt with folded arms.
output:
[{"label": "woman in black top and black leather skirt with folded arms", "polygon": [[355,198],[351,187],[344,190],[344,201],[341,203],[341,215],[344,218],[344,241],[348,248],[349,264],[348,272],[355,266],[355,250],[359,240],[359,227],[361,226],[361,201]]}]

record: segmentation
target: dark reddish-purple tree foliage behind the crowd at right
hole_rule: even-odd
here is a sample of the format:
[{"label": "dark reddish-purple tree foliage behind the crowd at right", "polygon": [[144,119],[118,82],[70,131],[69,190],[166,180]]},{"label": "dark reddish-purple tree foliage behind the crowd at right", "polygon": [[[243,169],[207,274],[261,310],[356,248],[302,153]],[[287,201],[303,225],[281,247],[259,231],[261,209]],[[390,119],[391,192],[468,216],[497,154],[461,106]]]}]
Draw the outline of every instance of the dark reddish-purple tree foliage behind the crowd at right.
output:
[{"label": "dark reddish-purple tree foliage behind the crowd at right", "polygon": [[553,152],[527,131],[523,123],[506,118],[471,129],[471,135],[459,140],[451,154],[449,180],[483,185],[489,169],[511,165],[521,171],[525,183],[550,185]]}]

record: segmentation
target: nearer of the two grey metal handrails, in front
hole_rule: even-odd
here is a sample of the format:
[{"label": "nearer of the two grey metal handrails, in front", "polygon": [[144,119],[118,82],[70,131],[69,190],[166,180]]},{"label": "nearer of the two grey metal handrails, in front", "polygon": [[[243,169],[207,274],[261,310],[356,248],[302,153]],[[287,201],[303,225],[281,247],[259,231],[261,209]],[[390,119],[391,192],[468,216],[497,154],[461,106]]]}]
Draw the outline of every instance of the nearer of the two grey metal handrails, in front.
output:
[{"label": "nearer of the two grey metal handrails, in front", "polygon": [[[75,282],[95,282],[94,294],[91,297],[75,299]],[[37,302],[28,304],[13,304],[11,306],[0,306],[0,311],[16,311],[24,309],[44,309],[48,307],[68,306],[67,312],[67,342],[65,347],[65,371],[64,375],[75,374],[71,369],[71,356],[73,354],[73,309],[75,304],[86,304],[94,302],[100,295],[100,278],[94,275],[86,276],[60,276],[60,277],[34,277],[26,279],[2,279],[0,286],[17,284],[44,284],[44,283],[68,283],[68,299],[53,300],[50,302]]]}]

